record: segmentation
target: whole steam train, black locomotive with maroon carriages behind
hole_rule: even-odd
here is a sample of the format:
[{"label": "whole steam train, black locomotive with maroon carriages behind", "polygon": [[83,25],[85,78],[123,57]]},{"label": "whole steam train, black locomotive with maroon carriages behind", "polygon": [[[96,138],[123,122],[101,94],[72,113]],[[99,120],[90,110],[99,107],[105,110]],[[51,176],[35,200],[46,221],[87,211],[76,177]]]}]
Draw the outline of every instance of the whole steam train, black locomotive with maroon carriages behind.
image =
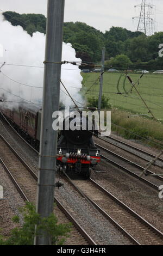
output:
[{"label": "whole steam train, black locomotive with maroon carriages behind", "polygon": [[[41,109],[23,105],[15,109],[1,107],[0,113],[1,118],[5,117],[12,127],[37,151],[40,147],[41,114]],[[69,124],[72,119],[69,118]],[[65,120],[66,118],[63,121],[65,122]],[[82,116],[81,120],[83,120]],[[85,122],[87,123],[87,119]],[[101,160],[99,149],[93,142],[93,135],[97,135],[95,123],[91,130],[87,127],[84,131],[82,129],[59,131],[57,169],[90,178],[91,170],[95,170]]]}]

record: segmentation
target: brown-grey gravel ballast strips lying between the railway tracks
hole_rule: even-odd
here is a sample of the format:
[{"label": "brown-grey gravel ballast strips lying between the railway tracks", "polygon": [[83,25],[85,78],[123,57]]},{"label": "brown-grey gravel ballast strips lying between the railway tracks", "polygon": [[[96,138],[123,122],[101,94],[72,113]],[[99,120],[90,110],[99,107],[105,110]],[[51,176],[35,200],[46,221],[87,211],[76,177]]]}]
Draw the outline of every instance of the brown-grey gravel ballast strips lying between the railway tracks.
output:
[{"label": "brown-grey gravel ballast strips lying between the railway tracks", "polygon": [[[24,161],[37,173],[38,156],[32,149],[29,149],[28,145],[22,142],[14,132],[10,131],[12,137],[14,137],[14,139],[12,139],[4,128],[1,128],[2,135],[8,137],[9,143],[15,147]],[[122,200],[123,203],[139,213],[156,228],[159,230],[163,229],[161,221],[163,217],[163,207],[162,200],[158,198],[158,193],[141,181],[136,180],[129,174],[124,174],[120,169],[115,168],[105,161],[102,161],[98,169],[103,170],[104,173],[92,172],[91,178],[95,179],[95,181],[104,186],[106,190],[117,196],[118,199]],[[90,236],[99,245],[130,244],[126,237],[123,237],[109,221],[105,221],[105,218],[100,216],[97,210],[92,209],[85,199],[72,190],[70,185],[64,184],[64,187],[55,191],[55,194],[60,198],[62,204],[69,208],[72,215],[77,218],[77,221],[84,229],[89,231]]]}]

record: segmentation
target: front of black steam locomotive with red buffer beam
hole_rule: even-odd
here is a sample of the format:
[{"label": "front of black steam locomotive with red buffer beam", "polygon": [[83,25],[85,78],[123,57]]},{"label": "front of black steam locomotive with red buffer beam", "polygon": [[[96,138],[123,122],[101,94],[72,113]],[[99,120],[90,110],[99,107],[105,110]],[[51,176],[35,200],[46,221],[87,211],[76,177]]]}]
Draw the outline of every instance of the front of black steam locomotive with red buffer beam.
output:
[{"label": "front of black steam locomotive with red buffer beam", "polygon": [[[73,116],[72,112],[71,115]],[[64,169],[66,172],[76,172],[90,177],[91,169],[95,169],[100,161],[99,150],[95,147],[92,135],[95,132],[95,124],[92,129],[89,129],[88,118],[75,115],[64,118],[68,123],[68,129],[63,129],[59,134],[57,165],[59,169]],[[73,123],[72,130],[71,123]],[[83,127],[84,130],[83,130]]]}]

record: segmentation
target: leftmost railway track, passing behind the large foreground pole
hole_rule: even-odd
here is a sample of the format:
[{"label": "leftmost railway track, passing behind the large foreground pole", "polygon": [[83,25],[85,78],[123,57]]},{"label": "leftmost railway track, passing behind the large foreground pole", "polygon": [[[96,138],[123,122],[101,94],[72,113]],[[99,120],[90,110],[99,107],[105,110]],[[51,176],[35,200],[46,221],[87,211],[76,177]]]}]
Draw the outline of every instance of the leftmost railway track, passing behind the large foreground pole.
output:
[{"label": "leftmost railway track, passing behind the large foreground pole", "polygon": [[[14,182],[23,200],[36,204],[37,175],[2,135],[0,135],[0,149],[0,162],[5,171],[9,174],[12,182]],[[55,215],[59,222],[72,222],[73,224],[70,237],[68,237],[66,241],[67,245],[96,245],[78,222],[74,220],[72,215],[60,204],[59,200],[54,198],[54,201],[57,203]]]}]

